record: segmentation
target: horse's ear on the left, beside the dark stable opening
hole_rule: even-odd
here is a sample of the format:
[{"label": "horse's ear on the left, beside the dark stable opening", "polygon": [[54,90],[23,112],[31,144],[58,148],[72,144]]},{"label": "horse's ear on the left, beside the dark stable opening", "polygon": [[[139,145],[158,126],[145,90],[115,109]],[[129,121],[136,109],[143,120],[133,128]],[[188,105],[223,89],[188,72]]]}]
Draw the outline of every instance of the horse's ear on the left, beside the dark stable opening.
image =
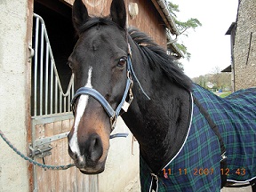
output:
[{"label": "horse's ear on the left, beside the dark stable opening", "polygon": [[79,34],[79,28],[85,20],[88,20],[89,14],[87,8],[85,7],[82,0],[76,0],[73,4],[72,8],[72,18],[73,18],[73,25],[76,28],[77,33]]}]

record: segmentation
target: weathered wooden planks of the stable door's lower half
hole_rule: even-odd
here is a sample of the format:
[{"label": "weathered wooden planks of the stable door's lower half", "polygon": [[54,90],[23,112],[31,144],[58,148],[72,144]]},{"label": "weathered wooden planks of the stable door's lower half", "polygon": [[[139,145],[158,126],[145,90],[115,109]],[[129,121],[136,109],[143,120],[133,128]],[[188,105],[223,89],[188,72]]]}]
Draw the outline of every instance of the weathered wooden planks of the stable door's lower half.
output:
[{"label": "weathered wooden planks of the stable door's lower half", "polygon": [[[36,125],[36,140],[51,137],[63,132],[69,132],[73,125],[73,119],[58,121],[49,124]],[[72,164],[73,161],[68,156],[67,138],[55,140],[51,143],[52,155],[45,156],[45,164],[64,165]],[[43,164],[42,158],[36,161]],[[85,175],[79,172],[76,167],[68,170],[44,170],[36,167],[37,191],[98,191],[97,175]]]}]

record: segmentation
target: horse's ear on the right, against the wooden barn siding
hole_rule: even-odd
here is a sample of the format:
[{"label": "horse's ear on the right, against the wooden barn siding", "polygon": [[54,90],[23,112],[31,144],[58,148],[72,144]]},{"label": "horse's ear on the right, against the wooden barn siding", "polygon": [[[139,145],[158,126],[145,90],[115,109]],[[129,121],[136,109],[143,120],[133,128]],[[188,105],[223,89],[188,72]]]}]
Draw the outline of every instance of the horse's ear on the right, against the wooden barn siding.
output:
[{"label": "horse's ear on the right, against the wooden barn siding", "polygon": [[110,7],[110,15],[112,20],[116,22],[121,28],[125,28],[126,24],[126,10],[124,0],[113,0]]}]

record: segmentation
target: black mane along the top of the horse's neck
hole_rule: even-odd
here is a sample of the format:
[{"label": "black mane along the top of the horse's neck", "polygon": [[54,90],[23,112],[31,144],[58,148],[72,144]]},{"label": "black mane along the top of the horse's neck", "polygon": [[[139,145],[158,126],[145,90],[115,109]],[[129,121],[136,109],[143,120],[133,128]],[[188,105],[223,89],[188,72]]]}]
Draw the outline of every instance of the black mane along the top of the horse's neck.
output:
[{"label": "black mane along the top of the horse's neck", "polygon": [[144,60],[148,61],[150,68],[161,68],[173,83],[188,91],[191,90],[192,81],[182,72],[172,56],[167,55],[162,47],[137,28],[128,28],[128,33],[137,44]]}]

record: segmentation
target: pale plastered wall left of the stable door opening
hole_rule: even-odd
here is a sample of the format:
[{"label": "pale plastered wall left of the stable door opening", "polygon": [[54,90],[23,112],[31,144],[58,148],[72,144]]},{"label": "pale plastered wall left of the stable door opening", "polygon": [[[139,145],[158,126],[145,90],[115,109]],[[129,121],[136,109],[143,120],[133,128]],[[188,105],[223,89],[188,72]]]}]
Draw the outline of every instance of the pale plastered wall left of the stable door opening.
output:
[{"label": "pale plastered wall left of the stable door opening", "polygon": [[[27,1],[0,1],[0,129],[24,154],[28,149],[30,94],[27,11]],[[28,191],[28,188],[28,163],[0,138],[0,191]]]}]

